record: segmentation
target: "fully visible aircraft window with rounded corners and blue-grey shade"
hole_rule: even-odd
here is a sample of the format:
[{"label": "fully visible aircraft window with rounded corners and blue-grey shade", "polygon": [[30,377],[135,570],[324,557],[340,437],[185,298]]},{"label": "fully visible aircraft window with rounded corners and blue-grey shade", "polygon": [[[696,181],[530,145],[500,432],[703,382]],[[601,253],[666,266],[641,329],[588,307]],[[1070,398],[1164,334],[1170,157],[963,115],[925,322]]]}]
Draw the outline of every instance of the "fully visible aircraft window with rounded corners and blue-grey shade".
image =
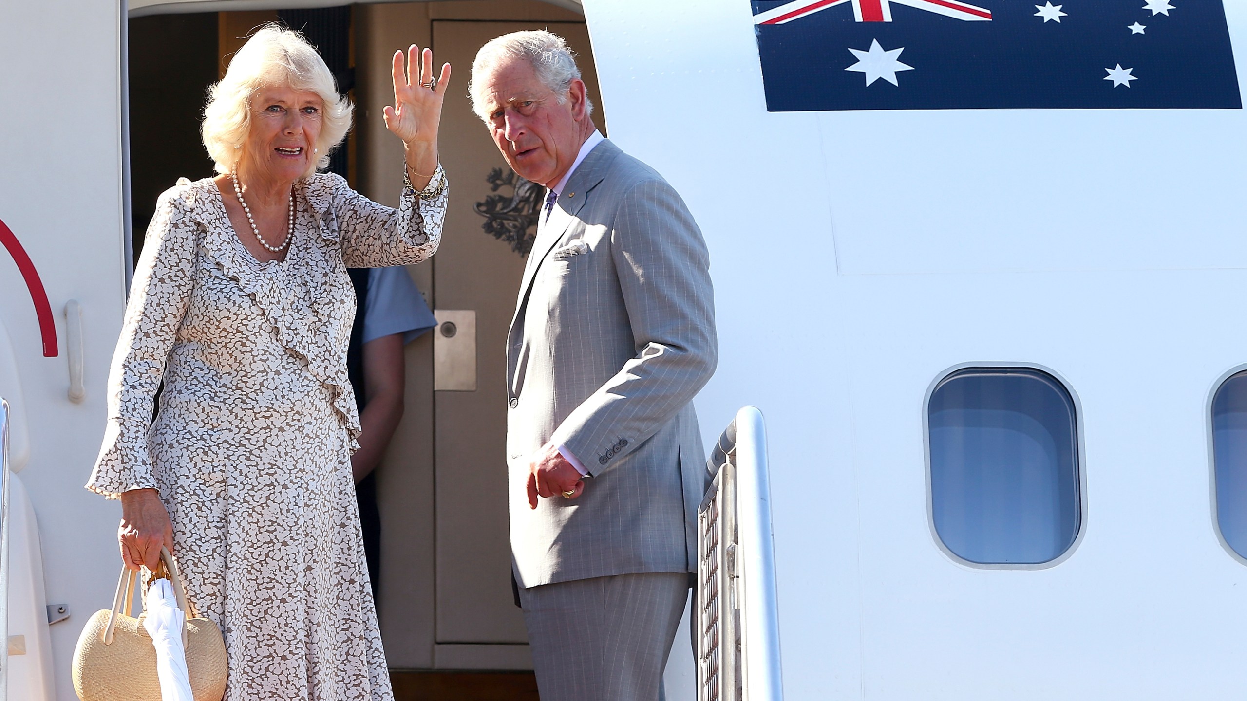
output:
[{"label": "fully visible aircraft window with rounded corners and blue-grey shade", "polygon": [[1077,420],[1056,378],[958,370],[932,392],[927,427],[932,520],[953,555],[1036,565],[1070,549],[1081,523]]}]

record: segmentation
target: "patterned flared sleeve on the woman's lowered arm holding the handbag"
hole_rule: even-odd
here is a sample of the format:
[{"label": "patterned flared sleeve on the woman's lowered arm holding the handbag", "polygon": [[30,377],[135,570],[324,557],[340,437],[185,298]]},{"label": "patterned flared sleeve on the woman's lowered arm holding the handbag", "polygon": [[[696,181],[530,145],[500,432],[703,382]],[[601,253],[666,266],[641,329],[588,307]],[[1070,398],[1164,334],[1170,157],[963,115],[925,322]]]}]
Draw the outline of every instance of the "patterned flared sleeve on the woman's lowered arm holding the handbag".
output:
[{"label": "patterned flared sleeve on the woman's lowered arm holding the handbag", "polygon": [[130,303],[108,373],[108,422],[86,488],[116,499],[156,488],[147,432],[165,364],[195,289],[196,223],[190,183],[161,195],[135,267]]}]

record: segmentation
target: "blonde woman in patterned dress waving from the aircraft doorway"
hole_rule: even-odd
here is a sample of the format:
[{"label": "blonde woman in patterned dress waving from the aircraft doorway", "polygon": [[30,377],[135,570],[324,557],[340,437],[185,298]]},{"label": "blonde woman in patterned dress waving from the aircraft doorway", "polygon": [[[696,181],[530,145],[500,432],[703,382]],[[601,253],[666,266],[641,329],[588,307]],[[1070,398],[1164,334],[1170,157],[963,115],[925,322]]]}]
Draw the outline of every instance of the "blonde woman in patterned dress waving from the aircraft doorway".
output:
[{"label": "blonde woman in patterned dress waving from the aircraft doorway", "polygon": [[121,499],[128,566],[175,554],[224,634],[232,701],[393,699],[350,474],[347,267],[438,248],[450,66],[431,66],[429,50],[394,55],[385,125],[407,172],[392,210],[317,173],[352,106],[302,36],[259,30],[205,111],[221,175],[178,181],[147,230],[87,488]]}]

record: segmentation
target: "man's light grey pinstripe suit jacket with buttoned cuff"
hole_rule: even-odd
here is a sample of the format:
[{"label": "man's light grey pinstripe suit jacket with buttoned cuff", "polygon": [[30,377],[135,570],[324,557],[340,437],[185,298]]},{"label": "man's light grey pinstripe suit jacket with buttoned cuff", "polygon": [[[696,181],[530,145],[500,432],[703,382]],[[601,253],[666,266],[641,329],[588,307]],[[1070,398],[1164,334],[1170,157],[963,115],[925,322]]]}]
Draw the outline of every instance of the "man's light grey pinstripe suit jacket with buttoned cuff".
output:
[{"label": "man's light grey pinstripe suit jacket with buttoned cuff", "polygon": [[[539,228],[506,343],[511,554],[520,586],[696,571],[710,483],[692,398],[718,362],[706,242],[683,201],[610,141]],[[527,504],[527,459],[594,476]]]}]

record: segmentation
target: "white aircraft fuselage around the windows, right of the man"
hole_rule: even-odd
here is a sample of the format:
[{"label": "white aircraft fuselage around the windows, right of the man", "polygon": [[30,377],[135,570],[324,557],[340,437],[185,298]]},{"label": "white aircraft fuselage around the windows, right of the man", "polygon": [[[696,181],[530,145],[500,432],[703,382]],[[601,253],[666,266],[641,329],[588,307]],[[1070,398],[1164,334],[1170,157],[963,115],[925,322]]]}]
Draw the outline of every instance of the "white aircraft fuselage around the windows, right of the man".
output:
[{"label": "white aircraft fuselage around the windows, right of the man", "polygon": [[[585,5],[611,138],[711,247],[702,425],[766,407],[786,467],[786,694],[1236,696],[1247,569],[1211,526],[1206,403],[1247,353],[1245,114],[771,114],[747,1]],[[1247,2],[1225,6],[1242,81]],[[924,393],[980,362],[1080,397],[1086,534],[1057,566],[971,569],[932,538]]]}]

